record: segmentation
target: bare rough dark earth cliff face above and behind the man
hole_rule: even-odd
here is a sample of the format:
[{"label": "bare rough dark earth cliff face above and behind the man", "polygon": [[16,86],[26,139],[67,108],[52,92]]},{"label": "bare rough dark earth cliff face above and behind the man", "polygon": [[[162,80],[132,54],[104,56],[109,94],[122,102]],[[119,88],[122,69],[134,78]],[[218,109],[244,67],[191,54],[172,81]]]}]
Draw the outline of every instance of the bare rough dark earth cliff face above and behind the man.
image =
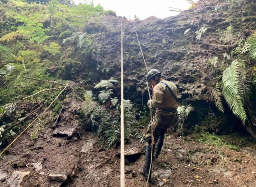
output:
[{"label": "bare rough dark earth cliff face above and behind the man", "polygon": [[[133,98],[134,95],[129,93],[134,93],[138,87],[146,87],[147,72],[133,25],[148,68],[159,69],[165,79],[173,81],[178,86],[182,100],[205,100],[216,78],[211,75],[207,60],[213,56],[223,60],[223,54],[230,55],[236,47],[236,41],[248,36],[256,25],[255,9],[252,1],[239,1],[237,4],[229,4],[228,1],[199,1],[196,8],[166,19],[123,19],[126,97]],[[110,68],[108,77],[119,79],[121,18],[105,17],[101,24],[102,33],[92,37],[101,56],[97,55],[92,61]],[[232,31],[230,35],[225,35],[229,26],[232,26]],[[196,32],[202,27],[206,31],[197,39]],[[189,32],[184,34],[188,29]]]}]

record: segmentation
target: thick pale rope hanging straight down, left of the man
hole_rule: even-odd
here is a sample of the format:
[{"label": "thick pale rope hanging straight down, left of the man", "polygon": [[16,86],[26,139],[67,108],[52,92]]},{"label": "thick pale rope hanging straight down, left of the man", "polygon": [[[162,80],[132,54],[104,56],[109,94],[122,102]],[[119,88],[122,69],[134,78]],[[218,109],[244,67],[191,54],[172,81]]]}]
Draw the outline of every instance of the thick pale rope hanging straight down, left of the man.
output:
[{"label": "thick pale rope hanging straight down, left of the man", "polygon": [[120,186],[125,185],[124,176],[124,75],[123,75],[123,19],[121,22],[121,160],[120,160]]}]

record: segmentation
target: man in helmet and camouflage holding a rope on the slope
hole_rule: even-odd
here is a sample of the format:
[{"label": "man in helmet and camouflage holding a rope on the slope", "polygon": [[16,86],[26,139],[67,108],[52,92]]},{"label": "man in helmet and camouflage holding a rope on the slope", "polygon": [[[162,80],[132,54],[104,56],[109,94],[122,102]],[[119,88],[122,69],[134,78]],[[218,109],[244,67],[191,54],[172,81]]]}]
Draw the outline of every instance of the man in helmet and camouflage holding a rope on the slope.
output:
[{"label": "man in helmet and camouflage holding a rope on the slope", "polygon": [[177,120],[177,87],[169,81],[161,78],[161,72],[153,69],[147,74],[147,81],[153,87],[152,100],[148,100],[149,108],[156,108],[156,113],[152,119],[152,124],[148,125],[146,135],[146,155],[143,171],[145,178],[151,177],[150,162],[151,162],[151,128],[153,131],[153,156],[158,157],[164,142],[165,131],[173,127]]}]

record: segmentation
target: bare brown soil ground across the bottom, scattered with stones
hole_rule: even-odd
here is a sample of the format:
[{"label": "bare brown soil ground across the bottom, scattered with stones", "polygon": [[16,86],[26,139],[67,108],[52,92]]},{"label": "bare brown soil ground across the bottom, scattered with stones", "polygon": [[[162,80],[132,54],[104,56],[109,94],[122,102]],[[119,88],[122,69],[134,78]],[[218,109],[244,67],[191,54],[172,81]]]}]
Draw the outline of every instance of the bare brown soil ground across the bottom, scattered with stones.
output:
[{"label": "bare brown soil ground across the bottom, scattered with stones", "polygon": [[[138,172],[143,167],[144,150],[139,141],[125,146],[126,186],[145,186]],[[240,152],[185,141],[175,134],[167,135],[160,157],[153,162],[151,186],[256,186],[255,146]],[[16,142],[0,162],[7,173],[1,186],[10,186],[7,179],[14,171],[30,172],[21,186],[119,186],[119,149],[101,149],[92,134],[81,137],[53,137],[46,130],[36,142],[29,131]],[[33,163],[41,162],[36,171]],[[56,181],[52,175],[66,179]],[[62,177],[63,178],[63,177]],[[65,177],[64,177],[65,178]],[[166,182],[166,183],[165,183]]]}]

